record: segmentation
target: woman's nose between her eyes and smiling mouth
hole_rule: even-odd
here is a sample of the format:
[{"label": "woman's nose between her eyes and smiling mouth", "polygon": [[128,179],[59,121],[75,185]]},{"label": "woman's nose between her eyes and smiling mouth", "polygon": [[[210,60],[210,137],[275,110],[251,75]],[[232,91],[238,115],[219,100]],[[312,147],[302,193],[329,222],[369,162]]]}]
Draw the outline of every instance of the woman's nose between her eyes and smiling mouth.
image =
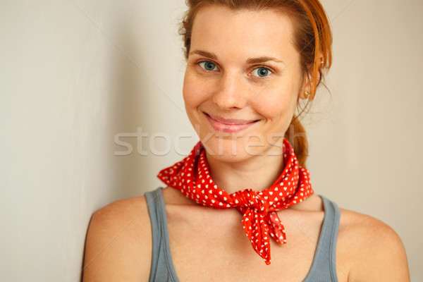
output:
[{"label": "woman's nose between her eyes and smiling mouth", "polygon": [[221,109],[243,109],[247,105],[247,87],[236,73],[224,73],[217,83],[213,102]]}]

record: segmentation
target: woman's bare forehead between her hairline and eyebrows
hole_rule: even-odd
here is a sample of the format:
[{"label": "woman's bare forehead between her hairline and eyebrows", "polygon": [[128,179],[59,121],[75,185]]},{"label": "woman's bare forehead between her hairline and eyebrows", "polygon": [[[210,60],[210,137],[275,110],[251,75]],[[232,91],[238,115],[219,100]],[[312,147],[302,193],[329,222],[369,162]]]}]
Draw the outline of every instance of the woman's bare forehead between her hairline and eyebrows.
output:
[{"label": "woman's bare forehead between her hairline and eyebrows", "polygon": [[223,6],[200,8],[194,20],[191,51],[202,49],[221,56],[274,56],[293,59],[293,23],[273,9],[233,11]]}]

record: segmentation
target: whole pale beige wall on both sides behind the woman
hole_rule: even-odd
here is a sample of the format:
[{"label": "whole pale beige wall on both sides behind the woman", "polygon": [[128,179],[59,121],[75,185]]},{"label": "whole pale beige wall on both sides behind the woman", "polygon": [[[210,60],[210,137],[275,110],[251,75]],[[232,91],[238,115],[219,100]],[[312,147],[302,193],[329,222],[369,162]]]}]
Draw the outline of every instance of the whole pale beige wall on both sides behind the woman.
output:
[{"label": "whole pale beige wall on both sides behind the woman", "polygon": [[[307,125],[314,190],[393,226],[423,281],[423,4],[323,3],[333,101],[322,91]],[[149,141],[162,151],[154,134],[193,133],[181,97],[183,10],[183,0],[0,2],[1,281],[78,281],[92,212],[156,188],[157,171],[182,158],[174,147],[154,156]],[[124,149],[114,135],[137,128],[149,135],[142,147],[122,137],[134,151],[114,155]]]}]

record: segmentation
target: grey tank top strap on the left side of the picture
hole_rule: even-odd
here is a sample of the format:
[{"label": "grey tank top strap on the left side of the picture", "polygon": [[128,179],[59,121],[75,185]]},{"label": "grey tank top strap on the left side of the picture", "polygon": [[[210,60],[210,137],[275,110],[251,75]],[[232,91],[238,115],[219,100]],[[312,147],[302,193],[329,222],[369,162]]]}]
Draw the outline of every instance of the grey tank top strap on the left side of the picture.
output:
[{"label": "grey tank top strap on the left side of the picture", "polygon": [[152,223],[152,266],[149,282],[179,282],[171,258],[171,247],[162,188],[146,192],[148,212]]}]

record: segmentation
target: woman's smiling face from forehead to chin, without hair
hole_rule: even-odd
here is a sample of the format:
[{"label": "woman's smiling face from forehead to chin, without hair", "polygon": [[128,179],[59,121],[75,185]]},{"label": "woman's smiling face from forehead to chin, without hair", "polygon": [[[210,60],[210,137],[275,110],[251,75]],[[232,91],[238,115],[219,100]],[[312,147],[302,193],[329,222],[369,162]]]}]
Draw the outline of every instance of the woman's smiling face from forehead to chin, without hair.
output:
[{"label": "woman's smiling face from forehead to chin, without hair", "polygon": [[197,13],[183,97],[207,154],[226,161],[282,154],[305,90],[299,60],[293,23],[281,12],[207,6]]}]

